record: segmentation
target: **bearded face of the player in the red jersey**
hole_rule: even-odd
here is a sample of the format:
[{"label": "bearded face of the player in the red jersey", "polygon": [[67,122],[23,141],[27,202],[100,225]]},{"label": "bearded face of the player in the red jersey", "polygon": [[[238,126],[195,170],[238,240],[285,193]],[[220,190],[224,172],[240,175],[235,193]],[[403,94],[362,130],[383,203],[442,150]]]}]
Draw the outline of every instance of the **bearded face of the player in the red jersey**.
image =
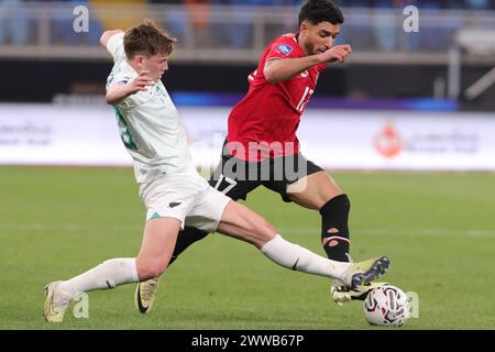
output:
[{"label": "bearded face of the player in the red jersey", "polygon": [[331,48],[339,33],[340,24],[330,22],[312,24],[309,21],[304,21],[300,24],[299,36],[306,54],[315,55]]}]

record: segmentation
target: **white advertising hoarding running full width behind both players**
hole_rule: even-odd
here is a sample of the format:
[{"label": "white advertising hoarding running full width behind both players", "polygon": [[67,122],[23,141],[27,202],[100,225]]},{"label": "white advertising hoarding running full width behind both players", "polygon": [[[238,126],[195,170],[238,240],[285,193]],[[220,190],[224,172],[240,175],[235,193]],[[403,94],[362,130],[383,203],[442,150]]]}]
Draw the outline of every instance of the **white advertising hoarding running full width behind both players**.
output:
[{"label": "white advertising hoarding running full width behind both players", "polygon": [[[495,170],[495,114],[307,109],[302,153],[330,169]],[[229,108],[179,107],[193,157],[219,161]],[[128,166],[107,106],[0,105],[0,164]]]}]

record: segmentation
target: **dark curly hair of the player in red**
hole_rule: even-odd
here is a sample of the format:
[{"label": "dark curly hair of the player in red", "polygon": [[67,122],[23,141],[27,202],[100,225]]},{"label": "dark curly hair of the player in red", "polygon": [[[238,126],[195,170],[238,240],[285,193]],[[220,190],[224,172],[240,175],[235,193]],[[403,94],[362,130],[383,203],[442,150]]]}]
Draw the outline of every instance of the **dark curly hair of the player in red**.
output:
[{"label": "dark curly hair of the player in red", "polygon": [[306,1],[299,11],[299,25],[305,20],[312,24],[318,24],[320,22],[341,24],[344,22],[342,12],[331,0]]}]

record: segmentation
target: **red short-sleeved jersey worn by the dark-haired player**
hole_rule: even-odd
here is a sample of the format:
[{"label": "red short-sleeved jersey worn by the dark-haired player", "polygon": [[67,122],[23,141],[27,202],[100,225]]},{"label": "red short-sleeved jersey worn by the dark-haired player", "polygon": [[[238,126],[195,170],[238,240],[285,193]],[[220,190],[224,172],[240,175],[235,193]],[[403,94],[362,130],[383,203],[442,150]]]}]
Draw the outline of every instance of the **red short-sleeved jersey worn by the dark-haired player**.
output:
[{"label": "red short-sleeved jersey worn by the dark-haired player", "polygon": [[248,77],[248,95],[229,116],[228,141],[232,155],[261,161],[299,152],[296,131],[300,116],[327,65],[315,65],[278,84],[268,82],[263,69],[266,62],[274,58],[305,56],[294,35],[277,37],[266,47],[257,69]]}]

